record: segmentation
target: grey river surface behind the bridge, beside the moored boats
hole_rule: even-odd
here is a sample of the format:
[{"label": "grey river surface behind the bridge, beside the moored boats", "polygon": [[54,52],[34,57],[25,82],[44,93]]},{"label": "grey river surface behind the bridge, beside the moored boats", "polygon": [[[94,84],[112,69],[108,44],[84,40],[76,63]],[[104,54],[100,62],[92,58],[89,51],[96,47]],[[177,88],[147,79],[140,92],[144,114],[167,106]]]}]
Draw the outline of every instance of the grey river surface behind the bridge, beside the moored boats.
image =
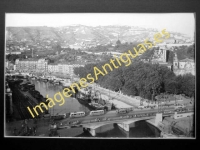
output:
[{"label": "grey river surface behind the bridge, beside the moored boats", "polygon": [[[63,91],[63,87],[61,85],[53,85],[52,83],[49,82],[39,82],[39,81],[31,81],[33,84],[35,84],[35,89],[41,93],[44,97],[48,95],[49,98],[52,98],[54,100],[54,95],[57,92]],[[63,96],[64,97],[64,96]],[[74,98],[66,98],[65,103],[60,106],[62,102],[55,102],[55,106],[53,108],[49,109],[49,112],[51,114],[56,114],[56,113],[68,113],[68,112],[73,112],[73,111],[86,111],[88,112],[89,109],[85,107],[84,105],[80,104],[78,100]]]}]

